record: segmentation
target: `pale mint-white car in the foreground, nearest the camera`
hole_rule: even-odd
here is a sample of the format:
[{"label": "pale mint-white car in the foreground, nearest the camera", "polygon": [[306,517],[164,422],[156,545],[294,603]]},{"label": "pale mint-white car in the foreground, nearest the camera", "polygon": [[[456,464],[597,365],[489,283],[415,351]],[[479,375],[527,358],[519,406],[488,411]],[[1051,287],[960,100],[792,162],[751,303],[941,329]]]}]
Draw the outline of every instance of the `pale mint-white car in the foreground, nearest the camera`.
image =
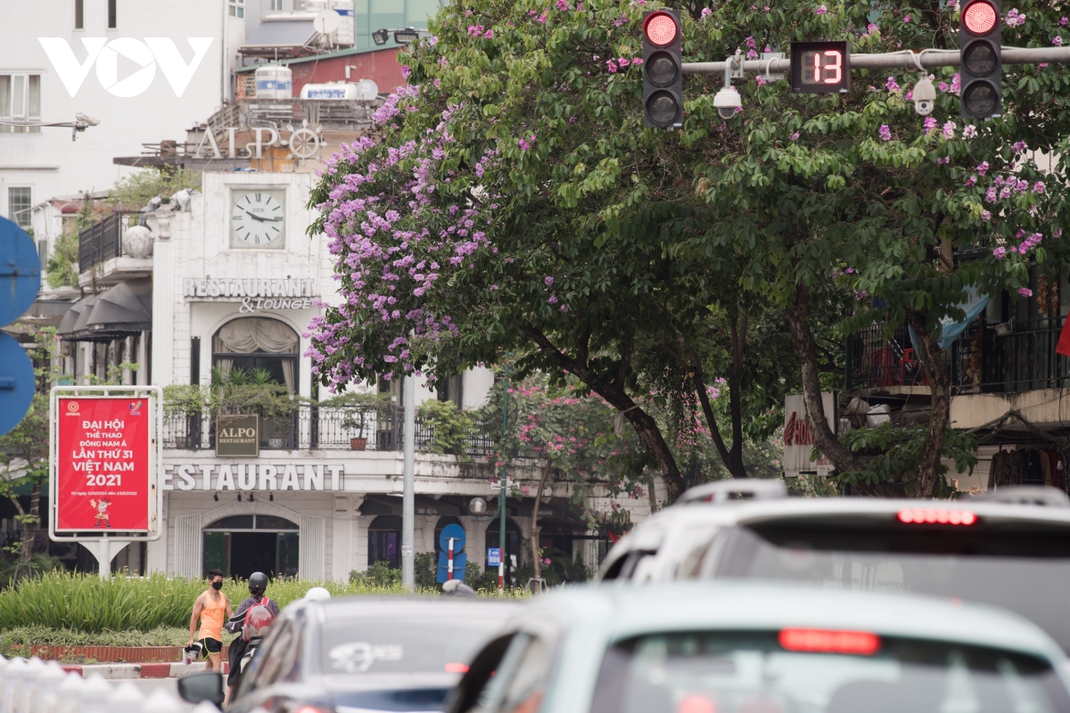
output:
[{"label": "pale mint-white car in the foreground, nearest the camera", "polygon": [[784,586],[536,598],[447,713],[1066,713],[1066,657],[1012,614]]}]

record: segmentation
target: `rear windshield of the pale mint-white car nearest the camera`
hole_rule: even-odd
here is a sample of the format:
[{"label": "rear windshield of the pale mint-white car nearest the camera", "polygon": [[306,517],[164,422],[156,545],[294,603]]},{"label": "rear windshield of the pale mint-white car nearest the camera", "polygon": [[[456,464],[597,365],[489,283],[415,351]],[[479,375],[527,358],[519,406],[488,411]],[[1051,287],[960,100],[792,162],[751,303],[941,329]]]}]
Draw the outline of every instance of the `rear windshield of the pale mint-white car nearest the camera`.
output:
[{"label": "rear windshield of the pale mint-white car nearest the camera", "polygon": [[[591,713],[1070,710],[1055,671],[1031,656],[865,633],[844,639],[796,631],[785,639],[791,633],[672,633],[624,641],[606,653]],[[859,636],[875,647],[863,647],[865,654],[822,651],[844,642],[857,651]]]}]

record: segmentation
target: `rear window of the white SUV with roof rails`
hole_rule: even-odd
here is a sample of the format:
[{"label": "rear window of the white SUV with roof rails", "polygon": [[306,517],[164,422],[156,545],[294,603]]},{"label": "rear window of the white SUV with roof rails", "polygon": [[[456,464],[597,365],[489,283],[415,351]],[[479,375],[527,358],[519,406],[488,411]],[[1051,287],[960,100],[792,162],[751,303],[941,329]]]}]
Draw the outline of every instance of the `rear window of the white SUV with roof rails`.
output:
[{"label": "rear window of the white SUV with roof rails", "polygon": [[1070,528],[799,518],[735,528],[714,576],[919,592],[994,604],[1070,651]]}]

